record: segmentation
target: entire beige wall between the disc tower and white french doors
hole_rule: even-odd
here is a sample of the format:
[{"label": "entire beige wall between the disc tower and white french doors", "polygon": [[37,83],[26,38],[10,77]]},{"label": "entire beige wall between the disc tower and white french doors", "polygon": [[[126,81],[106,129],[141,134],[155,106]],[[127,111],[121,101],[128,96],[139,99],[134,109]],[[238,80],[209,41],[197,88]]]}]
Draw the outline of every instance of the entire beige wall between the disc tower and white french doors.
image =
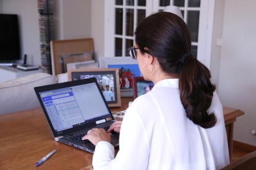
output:
[{"label": "entire beige wall between the disc tower and white french doors", "polygon": [[104,55],[104,0],[58,0],[56,39],[93,38],[95,58]]}]

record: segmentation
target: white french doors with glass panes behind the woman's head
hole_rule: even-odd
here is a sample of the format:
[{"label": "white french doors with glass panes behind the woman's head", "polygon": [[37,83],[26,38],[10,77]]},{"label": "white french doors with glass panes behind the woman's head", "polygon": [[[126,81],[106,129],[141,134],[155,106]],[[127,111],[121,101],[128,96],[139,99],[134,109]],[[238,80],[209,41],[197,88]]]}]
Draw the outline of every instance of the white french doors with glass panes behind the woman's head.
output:
[{"label": "white french doors with glass panes behind the woman's head", "polygon": [[190,30],[192,54],[209,67],[214,1],[207,0],[105,1],[105,56],[128,56],[127,48],[134,46],[136,26],[169,5],[180,7]]}]

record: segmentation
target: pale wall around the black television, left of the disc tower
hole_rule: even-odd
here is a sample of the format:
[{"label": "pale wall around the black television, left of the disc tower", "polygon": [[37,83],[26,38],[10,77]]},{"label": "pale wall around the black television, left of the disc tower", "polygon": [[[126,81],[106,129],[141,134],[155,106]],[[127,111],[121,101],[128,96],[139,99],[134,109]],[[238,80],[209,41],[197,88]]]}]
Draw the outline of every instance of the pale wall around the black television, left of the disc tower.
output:
[{"label": "pale wall around the black television, left of the disc tower", "polygon": [[41,64],[40,33],[37,1],[1,0],[3,14],[18,14],[22,59],[28,55],[28,63]]}]

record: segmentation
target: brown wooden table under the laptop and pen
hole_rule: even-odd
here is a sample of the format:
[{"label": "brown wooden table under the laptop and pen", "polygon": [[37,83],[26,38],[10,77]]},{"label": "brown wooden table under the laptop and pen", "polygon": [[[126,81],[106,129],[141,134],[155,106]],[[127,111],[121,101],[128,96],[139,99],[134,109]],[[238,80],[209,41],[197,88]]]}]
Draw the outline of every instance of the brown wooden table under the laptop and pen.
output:
[{"label": "brown wooden table under the laptop and pen", "polygon": [[[122,98],[122,107],[111,110],[125,110],[131,100]],[[234,121],[243,114],[241,110],[224,108],[230,154]],[[54,142],[41,108],[0,115],[0,169],[35,169],[35,163],[54,149],[56,153],[38,168],[92,169],[92,153]]]}]

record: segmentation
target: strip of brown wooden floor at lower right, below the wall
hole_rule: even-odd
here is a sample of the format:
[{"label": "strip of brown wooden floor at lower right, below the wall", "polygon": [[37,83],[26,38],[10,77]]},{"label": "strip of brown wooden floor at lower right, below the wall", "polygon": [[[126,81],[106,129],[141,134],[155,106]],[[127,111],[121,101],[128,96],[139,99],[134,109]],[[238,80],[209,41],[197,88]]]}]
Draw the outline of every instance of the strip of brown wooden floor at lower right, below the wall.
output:
[{"label": "strip of brown wooden floor at lower right, below the wall", "polygon": [[256,150],[256,147],[250,145],[249,147],[247,145],[242,144],[241,142],[234,141],[234,148],[233,148],[233,156],[232,161],[235,161],[242,156],[254,152]]}]

